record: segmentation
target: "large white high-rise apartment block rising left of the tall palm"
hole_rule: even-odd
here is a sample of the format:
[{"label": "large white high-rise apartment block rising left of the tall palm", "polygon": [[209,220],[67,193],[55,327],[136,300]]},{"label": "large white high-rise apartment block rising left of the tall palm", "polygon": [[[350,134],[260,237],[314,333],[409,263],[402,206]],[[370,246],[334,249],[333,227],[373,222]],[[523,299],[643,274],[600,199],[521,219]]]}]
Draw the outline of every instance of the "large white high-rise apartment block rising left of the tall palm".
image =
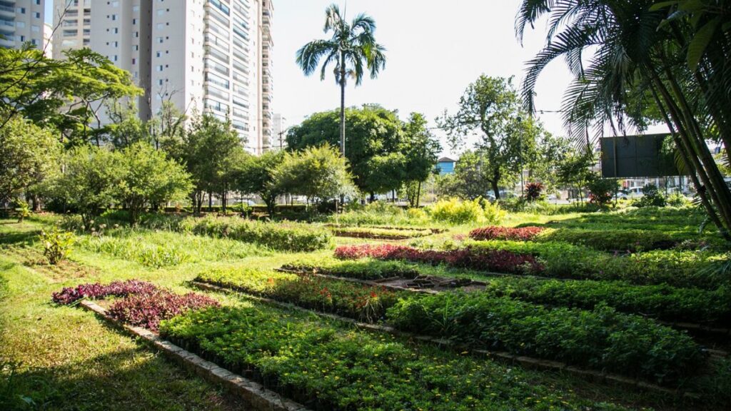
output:
[{"label": "large white high-rise apartment block rising left of the tall palm", "polygon": [[254,153],[270,147],[271,0],[56,0],[58,16],[56,56],[87,45],[131,72],[141,118],[170,101],[230,119]]}]

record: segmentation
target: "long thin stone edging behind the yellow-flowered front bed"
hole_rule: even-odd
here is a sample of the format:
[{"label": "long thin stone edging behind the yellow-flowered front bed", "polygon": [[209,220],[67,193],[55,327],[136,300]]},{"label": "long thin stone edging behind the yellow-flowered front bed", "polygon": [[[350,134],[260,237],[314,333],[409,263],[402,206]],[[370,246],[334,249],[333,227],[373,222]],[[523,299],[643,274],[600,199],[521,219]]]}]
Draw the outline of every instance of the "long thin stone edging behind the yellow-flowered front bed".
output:
[{"label": "long thin stone edging behind the yellow-flowered front bed", "polygon": [[235,290],[232,288],[226,288],[226,287],[219,287],[218,285],[213,284],[207,284],[205,282],[197,282],[193,281],[191,284],[194,287],[199,288],[200,290],[206,290],[206,291],[213,291],[217,293],[227,293],[227,294],[238,294],[243,295],[246,298],[251,298],[256,301],[261,301],[264,303],[269,303],[275,306],[280,306],[282,308],[286,309],[295,309],[300,312],[306,312],[306,313],[315,313],[319,315],[320,317],[326,317],[333,320],[342,321],[345,323],[350,323],[352,325],[355,325],[358,328],[365,328],[367,330],[371,331],[382,331],[386,333],[391,333],[393,335],[397,336],[403,336],[406,338],[412,338],[419,340],[421,342],[429,342],[432,344],[438,344],[438,345],[444,345],[447,347],[452,347],[454,349],[459,350],[469,350],[473,352],[474,354],[482,355],[484,357],[493,358],[498,361],[501,361],[503,363],[519,363],[520,366],[523,366],[527,369],[542,369],[542,370],[548,370],[548,371],[559,371],[559,372],[567,372],[569,374],[574,375],[575,377],[580,377],[585,380],[589,380],[592,382],[613,382],[619,385],[625,385],[632,388],[640,388],[646,391],[654,391],[656,393],[663,393],[663,394],[670,394],[673,396],[683,396],[687,398],[697,399],[700,398],[699,395],[696,393],[691,393],[687,391],[679,391],[679,390],[673,390],[671,388],[665,388],[660,385],[652,384],[650,382],[646,382],[643,380],[637,380],[630,377],[623,377],[618,374],[610,374],[606,372],[598,372],[590,369],[581,369],[579,367],[575,366],[569,366],[567,363],[561,363],[560,361],[550,361],[550,360],[542,360],[539,358],[532,358],[532,357],[526,357],[525,355],[514,355],[510,352],[504,352],[504,351],[490,351],[490,350],[477,350],[465,346],[460,346],[458,344],[455,344],[454,342],[448,340],[448,339],[439,339],[432,336],[420,336],[413,333],[408,333],[405,331],[399,331],[396,328],[390,327],[388,325],[379,325],[379,324],[370,324],[370,323],[361,323],[360,321],[353,320],[352,318],[348,317],[342,317],[337,314],[330,314],[326,312],[317,312],[311,309],[305,309],[303,307],[297,306],[293,303],[284,303],[282,301],[274,300],[272,298],[265,298],[260,297],[258,295],[251,295],[249,293],[245,293],[240,290]]}]

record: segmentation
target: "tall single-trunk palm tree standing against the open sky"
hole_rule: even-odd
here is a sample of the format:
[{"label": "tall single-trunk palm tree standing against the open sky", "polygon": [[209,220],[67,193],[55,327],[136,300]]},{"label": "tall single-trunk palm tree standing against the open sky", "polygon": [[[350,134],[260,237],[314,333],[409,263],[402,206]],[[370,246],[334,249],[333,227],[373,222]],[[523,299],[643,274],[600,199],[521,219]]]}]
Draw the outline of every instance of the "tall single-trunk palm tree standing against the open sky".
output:
[{"label": "tall single-trunk palm tree standing against the open sky", "polygon": [[333,31],[330,39],[308,42],[297,51],[297,64],[305,75],[311,75],[325,57],[320,80],[325,80],[327,66],[335,64],[336,83],[340,86],[340,151],[345,156],[345,86],[346,78],[354,78],[355,85],[363,82],[364,66],[376,78],[386,65],[385,48],[376,43],[374,31],[376,22],[368,15],[357,15],[351,23],[346,22],[336,4],[325,10],[325,33]]}]

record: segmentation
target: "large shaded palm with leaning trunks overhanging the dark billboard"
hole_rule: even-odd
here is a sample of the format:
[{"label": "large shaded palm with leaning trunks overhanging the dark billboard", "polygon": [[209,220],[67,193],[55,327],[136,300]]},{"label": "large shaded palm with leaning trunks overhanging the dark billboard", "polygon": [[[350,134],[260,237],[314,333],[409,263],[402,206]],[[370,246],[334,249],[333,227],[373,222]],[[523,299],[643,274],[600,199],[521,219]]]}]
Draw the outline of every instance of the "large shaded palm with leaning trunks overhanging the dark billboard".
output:
[{"label": "large shaded palm with leaning trunks overhanging the dark billboard", "polygon": [[[719,64],[728,53],[719,49],[729,50],[730,42],[722,33],[699,37],[702,31],[694,26],[713,19],[717,26],[723,18],[708,13],[700,25],[693,24],[679,10],[683,1],[523,0],[515,24],[518,39],[526,25],[545,15],[549,25],[545,47],[529,61],[523,99],[534,110],[538,76],[550,61],[563,57],[574,75],[564,95],[564,123],[587,147],[593,143],[592,126],[594,142],[605,124],[616,132],[644,129],[646,109],[654,105],[709,217],[731,238],[731,192],[705,143],[721,140],[727,153],[731,148],[728,98],[711,94],[708,86],[725,85],[728,94],[728,65]],[[717,47],[702,48],[698,39],[713,40]],[[719,67],[714,69],[714,63]]]}]

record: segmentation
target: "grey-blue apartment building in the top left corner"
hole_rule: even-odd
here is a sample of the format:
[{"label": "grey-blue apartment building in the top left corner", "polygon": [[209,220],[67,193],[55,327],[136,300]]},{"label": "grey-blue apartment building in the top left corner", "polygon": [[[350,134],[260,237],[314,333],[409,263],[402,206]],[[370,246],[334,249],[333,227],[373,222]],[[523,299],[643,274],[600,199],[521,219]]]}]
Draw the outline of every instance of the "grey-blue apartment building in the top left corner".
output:
[{"label": "grey-blue apartment building in the top left corner", "polygon": [[42,49],[44,0],[0,0],[0,47],[20,48],[30,42]]}]

